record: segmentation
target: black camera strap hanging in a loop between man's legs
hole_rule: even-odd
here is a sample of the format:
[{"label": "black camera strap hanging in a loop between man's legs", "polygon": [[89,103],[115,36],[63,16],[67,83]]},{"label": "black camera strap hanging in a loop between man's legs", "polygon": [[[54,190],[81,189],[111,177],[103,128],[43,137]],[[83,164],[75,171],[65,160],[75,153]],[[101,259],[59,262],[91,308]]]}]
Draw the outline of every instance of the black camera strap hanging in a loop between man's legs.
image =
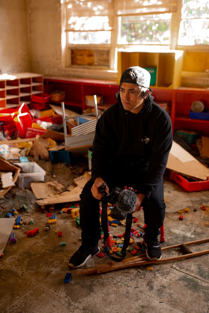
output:
[{"label": "black camera strap hanging in a loop between man's legs", "polygon": [[125,256],[126,256],[126,249],[128,248],[129,242],[130,242],[130,232],[131,232],[131,224],[132,224],[132,213],[129,213],[126,215],[126,223],[125,223],[125,237],[124,237],[124,243],[123,243],[123,248],[121,249],[120,253],[122,254],[122,258],[116,258],[112,256],[109,253],[109,250],[106,247],[106,241],[107,238],[110,236],[110,233],[108,231],[108,218],[107,218],[107,205],[108,205],[108,199],[105,196],[102,199],[102,214],[101,214],[101,227],[104,232],[104,250],[107,256],[115,261],[115,262],[121,262]]}]

